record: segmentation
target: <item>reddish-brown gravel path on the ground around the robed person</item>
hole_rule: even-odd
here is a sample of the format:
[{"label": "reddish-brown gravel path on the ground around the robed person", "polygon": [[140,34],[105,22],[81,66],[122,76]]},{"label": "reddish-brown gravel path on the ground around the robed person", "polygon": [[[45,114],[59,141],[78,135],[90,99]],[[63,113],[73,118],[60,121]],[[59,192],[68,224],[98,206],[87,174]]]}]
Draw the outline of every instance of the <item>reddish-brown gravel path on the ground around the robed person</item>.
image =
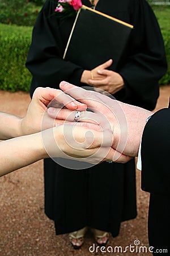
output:
[{"label": "reddish-brown gravel path on the ground around the robed person", "polygon": [[[156,110],[167,107],[170,86],[160,88]],[[23,116],[30,101],[25,92],[9,93],[0,91],[0,111]],[[67,234],[56,236],[53,221],[44,214],[44,177],[42,160],[0,178],[0,255],[1,256],[88,256],[88,255],[133,255],[151,256],[148,252],[147,212],[148,193],[141,191],[141,175],[137,170],[138,216],[135,220],[121,224],[120,234],[110,238],[105,252],[89,250],[94,244],[90,232],[80,250],[74,250],[67,240]],[[139,240],[139,241],[135,241]],[[139,246],[146,246],[147,252],[140,253]],[[114,246],[121,246],[116,253]],[[135,252],[133,250],[135,249]]]}]

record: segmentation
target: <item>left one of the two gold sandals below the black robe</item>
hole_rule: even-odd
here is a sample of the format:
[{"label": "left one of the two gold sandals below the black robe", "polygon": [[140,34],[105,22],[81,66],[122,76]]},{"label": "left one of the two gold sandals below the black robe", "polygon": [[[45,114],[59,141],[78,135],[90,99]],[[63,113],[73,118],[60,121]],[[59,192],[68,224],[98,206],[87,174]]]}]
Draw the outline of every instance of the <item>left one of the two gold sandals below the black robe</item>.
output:
[{"label": "left one of the two gold sandals below the black robe", "polygon": [[69,233],[69,241],[74,249],[80,249],[84,243],[84,234],[86,233],[87,227],[79,229],[77,231]]}]

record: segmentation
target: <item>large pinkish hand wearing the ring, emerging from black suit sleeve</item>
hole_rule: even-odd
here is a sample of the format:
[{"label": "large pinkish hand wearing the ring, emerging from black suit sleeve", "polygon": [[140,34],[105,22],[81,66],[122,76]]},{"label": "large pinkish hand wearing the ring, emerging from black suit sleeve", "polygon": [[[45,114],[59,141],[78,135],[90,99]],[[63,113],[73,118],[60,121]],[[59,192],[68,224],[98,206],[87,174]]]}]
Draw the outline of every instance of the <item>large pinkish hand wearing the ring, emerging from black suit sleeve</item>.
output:
[{"label": "large pinkish hand wearing the ring, emerging from black suit sleeve", "polygon": [[[82,112],[76,126],[112,134],[111,147],[114,162],[125,163],[138,155],[146,118],[153,114],[152,112],[66,82],[61,82],[60,88],[66,94],[86,104],[91,110],[91,112]],[[67,124],[73,125],[74,116],[69,109],[61,109],[58,112],[54,108],[49,108],[48,113],[50,117],[65,119]]]}]

